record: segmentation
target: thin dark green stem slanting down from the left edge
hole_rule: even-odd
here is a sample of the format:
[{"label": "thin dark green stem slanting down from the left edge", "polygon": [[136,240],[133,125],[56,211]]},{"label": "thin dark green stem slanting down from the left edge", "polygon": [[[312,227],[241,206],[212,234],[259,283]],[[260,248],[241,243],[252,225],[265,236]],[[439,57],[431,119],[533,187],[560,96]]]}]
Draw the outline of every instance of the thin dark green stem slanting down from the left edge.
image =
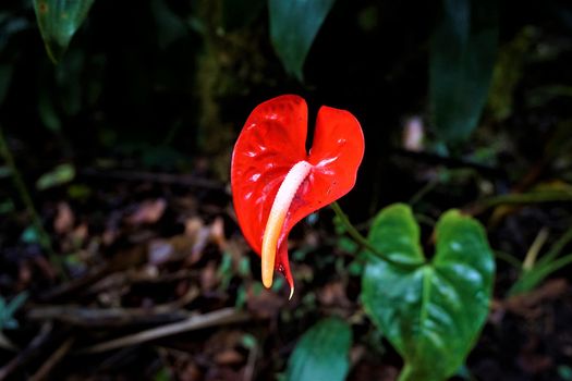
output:
[{"label": "thin dark green stem slanting down from the left edge", "polygon": [[4,137],[3,128],[0,126],[0,156],[4,159],[5,165],[10,170],[10,174],[12,175],[12,182],[14,183],[14,187],[16,188],[16,192],[20,194],[20,198],[22,199],[22,202],[24,202],[24,207],[26,208],[26,211],[31,218],[32,225],[36,230],[38,234],[38,242],[40,246],[46,250],[48,254],[48,259],[50,263],[58,270],[61,276],[65,276],[65,272],[63,271],[62,263],[58,256],[56,255],[56,251],[53,250],[53,247],[51,246],[51,239],[44,229],[44,225],[41,223],[41,219],[39,218],[39,214],[34,207],[34,202],[32,201],[32,197],[29,196],[29,192],[24,184],[24,181],[22,180],[22,175],[20,174],[20,171],[16,168],[16,164],[14,162],[14,158],[12,156],[12,152],[10,151],[10,148],[8,146],[7,139]]}]

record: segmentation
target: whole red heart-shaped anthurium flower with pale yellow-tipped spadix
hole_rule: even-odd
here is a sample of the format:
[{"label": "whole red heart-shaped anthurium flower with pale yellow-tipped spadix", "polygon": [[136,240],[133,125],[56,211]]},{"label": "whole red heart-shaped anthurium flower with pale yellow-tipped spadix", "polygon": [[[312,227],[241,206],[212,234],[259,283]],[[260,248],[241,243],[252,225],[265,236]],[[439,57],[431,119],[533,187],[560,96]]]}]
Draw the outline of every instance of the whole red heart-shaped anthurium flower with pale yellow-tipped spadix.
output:
[{"label": "whole red heart-shaped anthurium flower with pale yellow-tipped spadix", "polygon": [[350,192],[364,156],[362,127],[348,111],[319,109],[309,153],[306,134],[306,102],[284,95],[254,109],[232,153],[234,209],[246,241],[261,257],[263,283],[270,287],[278,270],[291,297],[288,234]]}]

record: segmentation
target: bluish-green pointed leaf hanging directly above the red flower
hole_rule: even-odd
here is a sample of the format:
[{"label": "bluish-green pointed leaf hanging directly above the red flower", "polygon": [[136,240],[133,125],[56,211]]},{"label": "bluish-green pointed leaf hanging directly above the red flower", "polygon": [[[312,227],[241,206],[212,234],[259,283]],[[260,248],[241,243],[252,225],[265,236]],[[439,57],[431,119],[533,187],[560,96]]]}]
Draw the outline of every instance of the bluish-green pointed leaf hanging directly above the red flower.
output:
[{"label": "bluish-green pointed leaf hanging directly above the red flower", "polygon": [[285,71],[300,82],[304,61],[334,0],[268,0],[270,39]]}]

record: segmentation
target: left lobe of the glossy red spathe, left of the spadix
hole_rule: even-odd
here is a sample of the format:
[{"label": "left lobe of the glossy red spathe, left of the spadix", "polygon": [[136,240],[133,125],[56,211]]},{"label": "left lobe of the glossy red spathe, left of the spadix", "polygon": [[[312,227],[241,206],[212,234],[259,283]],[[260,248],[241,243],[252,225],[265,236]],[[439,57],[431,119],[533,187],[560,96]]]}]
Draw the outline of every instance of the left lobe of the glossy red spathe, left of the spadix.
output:
[{"label": "left lobe of the glossy red spathe, left of the spadix", "polygon": [[246,241],[258,255],[278,188],[288,171],[306,158],[306,125],[304,99],[293,95],[277,97],[254,109],[234,145],[234,210]]}]

